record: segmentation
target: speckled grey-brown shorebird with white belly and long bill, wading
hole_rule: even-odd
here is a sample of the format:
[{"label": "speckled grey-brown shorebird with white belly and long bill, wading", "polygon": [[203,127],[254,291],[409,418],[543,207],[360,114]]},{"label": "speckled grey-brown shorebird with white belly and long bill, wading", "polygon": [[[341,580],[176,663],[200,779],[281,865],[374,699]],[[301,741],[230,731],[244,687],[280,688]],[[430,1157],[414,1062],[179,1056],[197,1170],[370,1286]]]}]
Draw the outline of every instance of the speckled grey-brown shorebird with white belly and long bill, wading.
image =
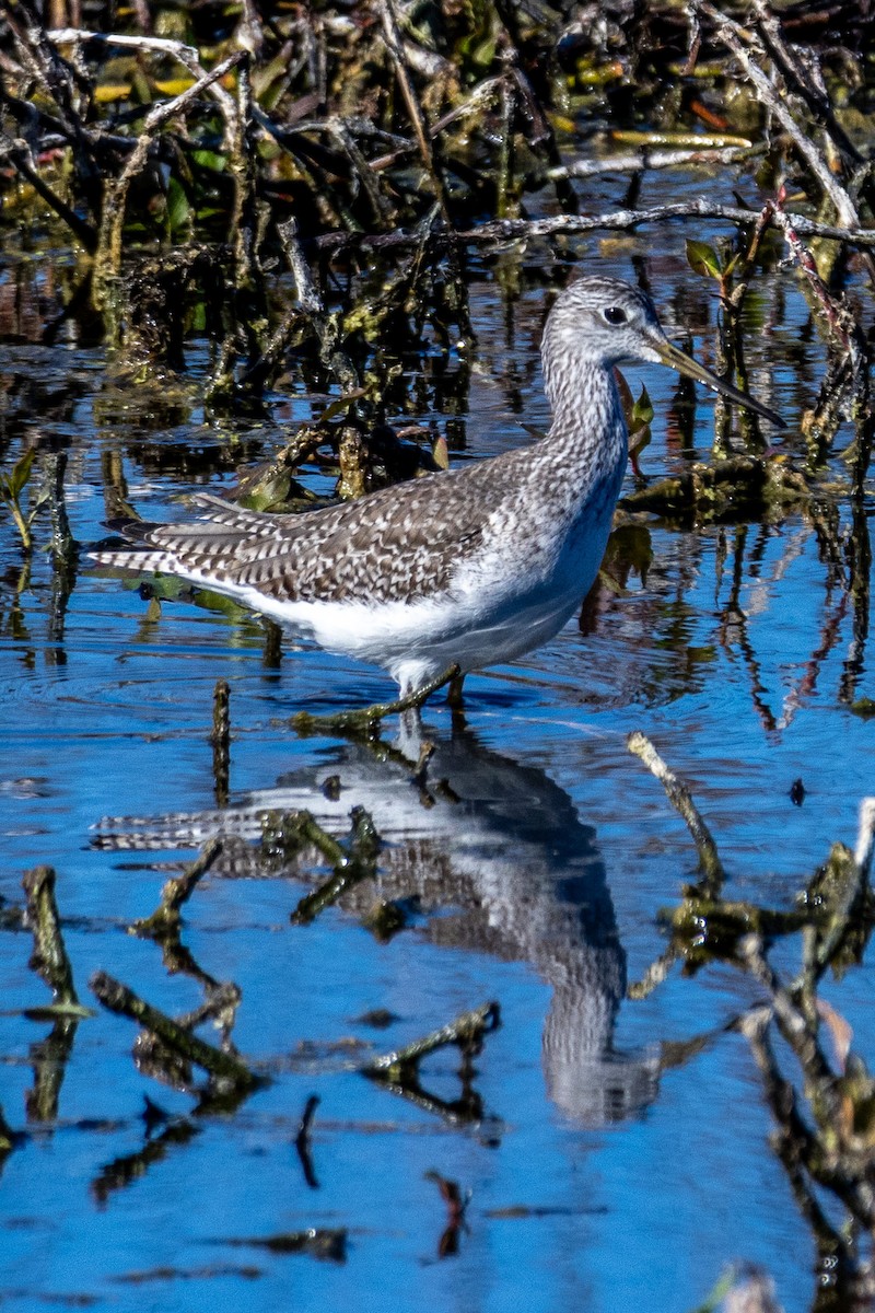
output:
[{"label": "speckled grey-brown shorebird with white belly and long bill, wading", "polygon": [[552,420],[538,442],[300,515],[210,495],[182,524],[127,523],[105,566],[177,575],[383,667],[409,695],[552,638],[589,591],[627,461],[614,366],[669,365],[782,427],[674,347],[643,291],[586,276],[556,298],[542,341]]}]

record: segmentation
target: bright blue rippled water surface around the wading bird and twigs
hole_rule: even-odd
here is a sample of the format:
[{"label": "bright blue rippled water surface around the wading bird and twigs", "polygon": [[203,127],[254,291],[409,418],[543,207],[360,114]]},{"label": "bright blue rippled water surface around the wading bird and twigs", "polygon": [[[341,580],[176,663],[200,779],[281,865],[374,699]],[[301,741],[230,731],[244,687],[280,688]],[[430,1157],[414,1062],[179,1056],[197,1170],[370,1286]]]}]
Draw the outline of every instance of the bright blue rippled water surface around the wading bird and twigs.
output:
[{"label": "bright blue rippled water surface around the wading bird and twigs", "polygon": [[[655,276],[669,269],[699,293],[668,251],[653,255]],[[791,286],[787,294],[791,315],[804,314]],[[547,418],[537,362],[543,295],[530,290],[513,309],[510,340],[496,324],[496,295],[489,282],[472,289],[480,345],[464,416],[470,458],[527,440],[518,406],[527,423]],[[790,337],[792,324],[783,331]],[[816,339],[807,348],[812,382],[796,383],[779,345],[761,345],[778,352],[769,400],[792,425],[811,400],[805,389],[816,390],[820,348]],[[98,353],[31,348],[25,357],[10,349],[0,365],[59,378],[72,368],[80,397],[58,424],[26,416],[10,456],[37,432],[68,437],[72,529],[96,541],[101,452],[123,453],[135,411],[130,425],[118,414],[101,423]],[[657,414],[644,463],[659,475],[681,460],[661,418],[674,385],[657,370],[635,378]],[[303,418],[306,404],[295,408]],[[702,449],[710,415],[701,398]],[[148,433],[159,448],[184,439],[184,427]],[[270,453],[282,432],[268,427],[261,440]],[[185,513],[172,499],[194,479],[129,458],[125,471],[140,513]],[[203,972],[240,986],[234,1040],[272,1078],[224,1116],[198,1116],[190,1095],[138,1071],[135,1025],[98,1011],[71,1041],[56,1115],[29,1120],[34,1046],[49,1027],[21,1010],[47,991],[28,968],[30,936],[3,935],[0,1103],[26,1133],[0,1191],[7,1306],[681,1313],[735,1260],[763,1264],[787,1313],[809,1305],[811,1238],[767,1148],[746,1044],[724,1031],[756,987],[728,966],[694,979],[676,968],[645,1001],[623,998],[624,978],[640,978],[662,951],[659,910],[697,872],[682,821],[624,739],[644,730],[689,779],[728,893],[787,906],[834,840],[853,846],[875,779],[872,726],[841,696],[847,580],[830,576],[799,513],[749,527],[744,542],[737,528],[641,524],[647,578],[632,572],[623,595],[605,596],[594,633],[572,622],[517,666],[471,678],[464,731],[439,699],[429,708],[438,755],[434,805],[424,806],[403,765],[289,727],[300,709],[387,696],[378,671],[290,645],[279,672],[265,668],[257,622],[185,604],[165,604],[151,621],[135,591],[88,571],[60,632],[45,555],[17,593],[21,554],[0,517],[0,894],[17,903],[25,869],[56,868],[84,1002],[96,969],[173,1014],[202,999],[197,979],[168,973],[160,948],[126,926],[156,906],[168,864],[190,860],[216,825],[207,737],[218,678],[231,685],[234,726],[226,821],[252,840],[260,810],[308,806],[342,835],[361,802],[386,840],[378,884],[310,926],[289,920],[325,877],[306,863],[270,877],[219,865],[186,905],[184,943]],[[840,540],[846,533],[840,517]],[[41,520],[37,540],[46,537]],[[727,617],[736,567],[741,614]],[[858,693],[872,693],[866,656]],[[344,785],[337,804],[321,790],[332,773]],[[436,789],[443,776],[457,801]],[[800,807],[788,797],[798,777]],[[366,928],[378,901],[400,902],[407,916],[388,943]],[[792,966],[796,952],[791,943],[781,960]],[[826,989],[870,1061],[872,983],[867,960]],[[502,1025],[475,1060],[480,1121],[457,1127],[356,1070],[363,1056],[488,999]],[[384,1031],[363,1019],[376,1008],[394,1018]],[[668,1060],[666,1044],[697,1036],[698,1050]],[[458,1066],[455,1049],[441,1050],[424,1064],[422,1085],[457,1099]],[[321,1100],[317,1188],[294,1148],[311,1094]],[[144,1145],[146,1095],[188,1117],[190,1136],[125,1187],[102,1190],[108,1165]],[[453,1257],[439,1257],[447,1213],[430,1170],[471,1196]],[[345,1262],[258,1243],[306,1228],[346,1229]]]}]

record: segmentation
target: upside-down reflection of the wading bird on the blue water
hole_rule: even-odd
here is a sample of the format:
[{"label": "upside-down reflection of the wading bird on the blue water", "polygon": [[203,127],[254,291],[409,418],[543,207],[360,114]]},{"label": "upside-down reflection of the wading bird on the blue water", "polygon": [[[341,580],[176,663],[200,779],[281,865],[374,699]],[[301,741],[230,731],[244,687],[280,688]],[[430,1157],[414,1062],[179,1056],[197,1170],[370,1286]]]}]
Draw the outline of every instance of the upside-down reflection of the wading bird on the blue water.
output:
[{"label": "upside-down reflection of the wading bird on the blue water", "polygon": [[[417,771],[422,742],[418,721],[405,721],[388,751],[338,744],[222,810],[105,818],[93,843],[155,851],[220,832],[227,842],[213,876],[275,876],[256,842],[268,813],[306,809],[337,834],[353,807],[365,807],[383,840],[378,889],[346,889],[342,909],[366,918],[375,894],[413,901],[432,943],[529,962],[552,986],[542,1048],[550,1099],[585,1125],[635,1115],[655,1098],[657,1061],[613,1045],[626,953],[594,829],[543,771],[485,748],[467,729],[429,735],[434,751]],[[310,882],[314,860],[324,861],[303,851],[282,874]]]}]

